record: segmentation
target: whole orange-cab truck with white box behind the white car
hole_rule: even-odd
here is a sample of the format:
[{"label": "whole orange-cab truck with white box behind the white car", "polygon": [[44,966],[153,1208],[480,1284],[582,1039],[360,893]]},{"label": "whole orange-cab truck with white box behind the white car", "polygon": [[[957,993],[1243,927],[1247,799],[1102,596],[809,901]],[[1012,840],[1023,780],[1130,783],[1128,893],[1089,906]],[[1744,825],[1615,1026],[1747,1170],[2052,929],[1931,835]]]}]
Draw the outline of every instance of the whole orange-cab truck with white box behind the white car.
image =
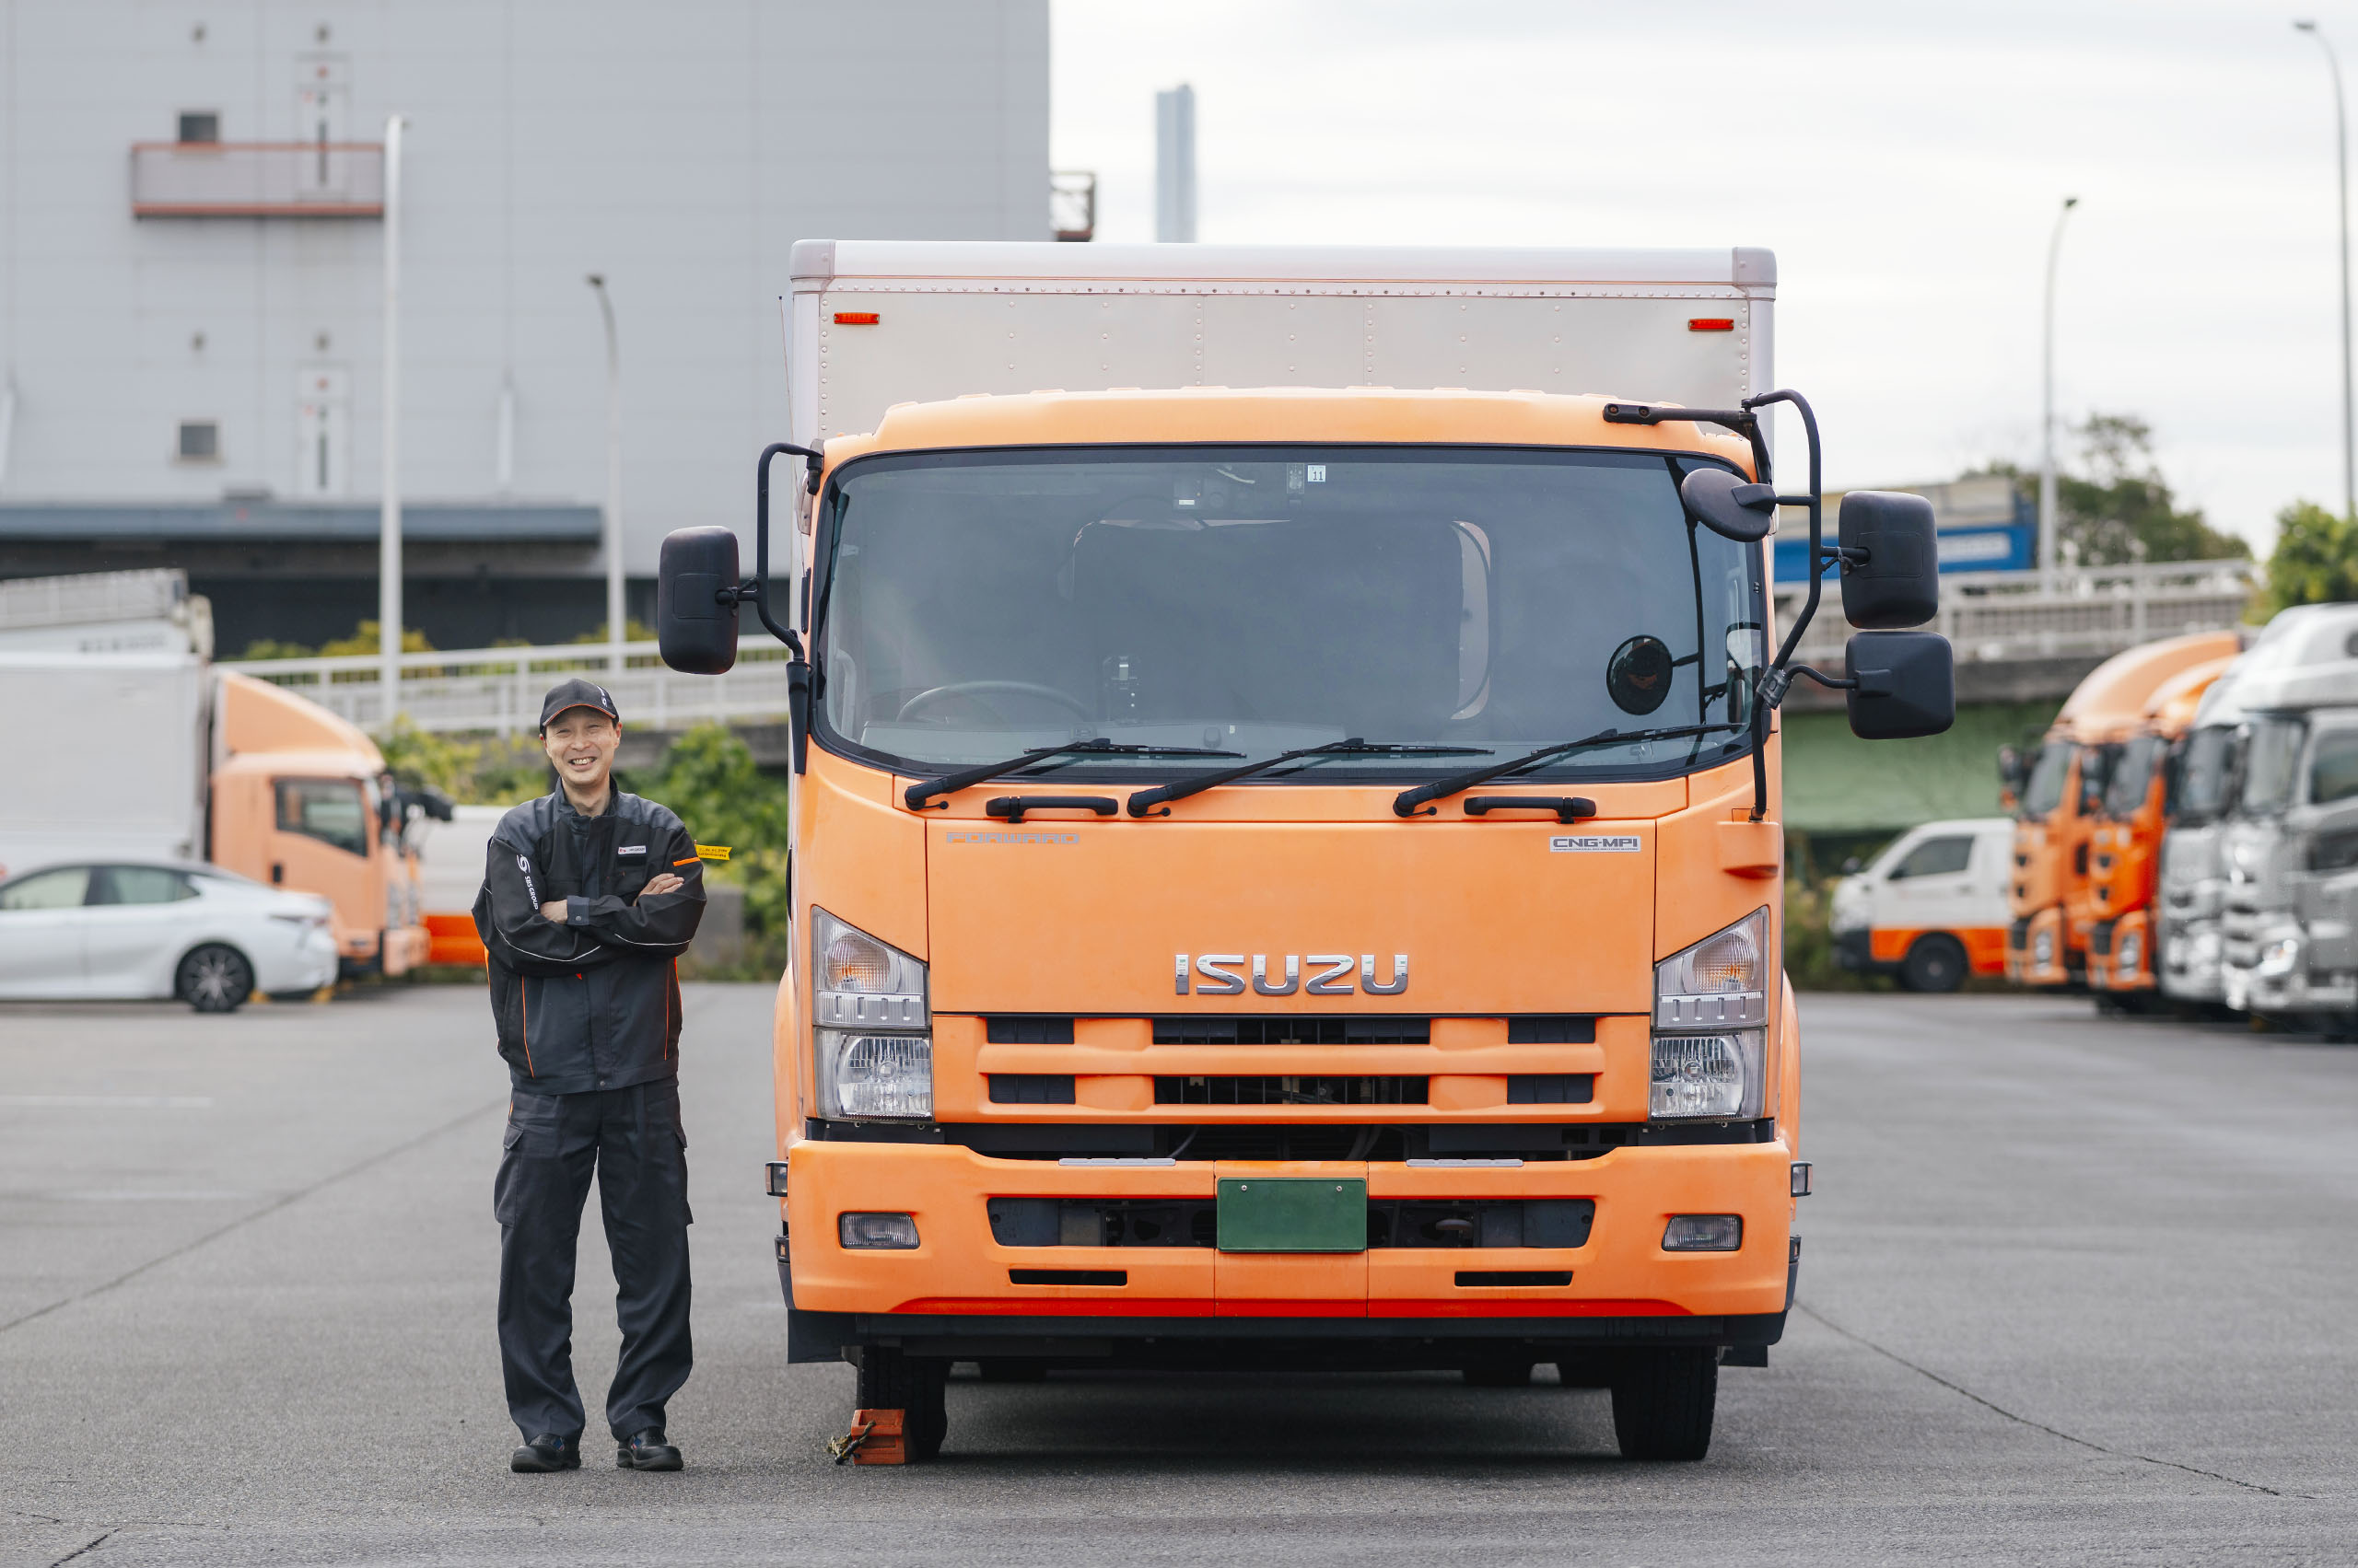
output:
[{"label": "whole orange-cab truck with white box behind the white car", "polygon": [[[210,861],[321,894],[344,974],[424,962],[415,816],[361,729],[210,663],[179,573],[7,585],[0,712],[17,736],[0,865]],[[196,613],[191,613],[191,608]]]}]

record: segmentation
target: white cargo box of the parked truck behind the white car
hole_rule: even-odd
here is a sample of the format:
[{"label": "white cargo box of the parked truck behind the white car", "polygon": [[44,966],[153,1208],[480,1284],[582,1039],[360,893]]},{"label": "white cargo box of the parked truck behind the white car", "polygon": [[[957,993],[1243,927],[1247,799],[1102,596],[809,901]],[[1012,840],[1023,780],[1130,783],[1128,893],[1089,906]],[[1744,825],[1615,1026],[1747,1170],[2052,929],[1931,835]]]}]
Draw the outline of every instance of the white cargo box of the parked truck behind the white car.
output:
[{"label": "white cargo box of the parked truck behind the white car", "polygon": [[203,861],[212,684],[191,651],[0,648],[0,868]]}]

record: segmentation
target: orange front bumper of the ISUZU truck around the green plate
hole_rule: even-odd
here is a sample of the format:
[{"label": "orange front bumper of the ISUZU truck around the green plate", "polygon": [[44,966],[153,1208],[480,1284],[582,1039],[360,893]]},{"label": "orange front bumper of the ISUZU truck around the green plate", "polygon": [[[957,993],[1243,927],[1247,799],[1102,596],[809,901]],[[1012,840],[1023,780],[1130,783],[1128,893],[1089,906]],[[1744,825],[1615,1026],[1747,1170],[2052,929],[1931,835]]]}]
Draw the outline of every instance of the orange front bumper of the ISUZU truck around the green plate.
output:
[{"label": "orange front bumper of the ISUZU truck around the green plate", "polygon": [[[1580,1247],[1339,1254],[1009,1247],[993,1238],[986,1212],[990,1198],[1205,1203],[1221,1177],[1365,1179],[1370,1205],[1587,1198],[1596,1207]],[[1358,1365],[1401,1363],[1403,1342],[1436,1337],[1771,1344],[1792,1290],[1792,1151],[1783,1141],[1615,1148],[1523,1165],[1106,1165],[995,1160],[962,1146],[799,1141],[788,1151],[778,1261],[797,1361],[832,1361],[856,1344],[1101,1356],[1139,1339],[1328,1339],[1349,1342]],[[849,1250],[839,1240],[844,1212],[910,1214],[917,1245]],[[1733,1252],[1665,1252],[1672,1214],[1738,1214],[1743,1243]],[[1445,1351],[1434,1353],[1436,1365],[1450,1365]]]}]

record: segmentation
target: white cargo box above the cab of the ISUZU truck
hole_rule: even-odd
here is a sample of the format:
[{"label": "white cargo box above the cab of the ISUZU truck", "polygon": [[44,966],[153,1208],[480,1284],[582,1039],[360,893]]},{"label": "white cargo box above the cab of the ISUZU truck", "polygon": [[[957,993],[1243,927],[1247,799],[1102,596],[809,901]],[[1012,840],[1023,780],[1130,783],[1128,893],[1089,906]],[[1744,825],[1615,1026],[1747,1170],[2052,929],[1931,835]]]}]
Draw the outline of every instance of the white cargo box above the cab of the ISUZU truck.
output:
[{"label": "white cargo box above the cab of the ISUZU truck", "polygon": [[1766,250],[802,241],[790,439],[894,403],[1111,387],[1462,387],[1733,408],[1768,391]]}]

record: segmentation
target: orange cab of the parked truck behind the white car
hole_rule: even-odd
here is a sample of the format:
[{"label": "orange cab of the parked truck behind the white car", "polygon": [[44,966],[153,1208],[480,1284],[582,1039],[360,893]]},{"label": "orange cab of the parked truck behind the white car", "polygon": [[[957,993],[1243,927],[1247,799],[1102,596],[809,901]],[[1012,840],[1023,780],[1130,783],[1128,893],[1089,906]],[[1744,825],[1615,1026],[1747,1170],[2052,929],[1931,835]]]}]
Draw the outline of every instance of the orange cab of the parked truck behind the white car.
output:
[{"label": "orange cab of the parked truck behind the white car", "polygon": [[335,905],[342,971],[408,974],[427,960],[413,830],[365,731],[292,691],[219,672],[212,854],[255,882]]}]

